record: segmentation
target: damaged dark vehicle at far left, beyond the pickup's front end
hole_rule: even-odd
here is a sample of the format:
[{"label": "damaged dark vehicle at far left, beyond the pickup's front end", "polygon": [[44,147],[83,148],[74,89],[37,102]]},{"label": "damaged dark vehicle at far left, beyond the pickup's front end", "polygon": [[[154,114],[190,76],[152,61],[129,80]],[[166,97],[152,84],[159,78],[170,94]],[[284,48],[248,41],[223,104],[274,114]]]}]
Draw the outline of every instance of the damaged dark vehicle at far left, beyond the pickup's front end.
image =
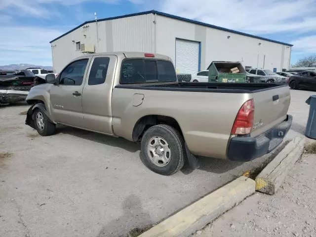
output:
[{"label": "damaged dark vehicle at far left, beyond the pickup's front end", "polygon": [[36,76],[28,71],[16,71],[0,76],[0,105],[23,101],[34,85]]}]

